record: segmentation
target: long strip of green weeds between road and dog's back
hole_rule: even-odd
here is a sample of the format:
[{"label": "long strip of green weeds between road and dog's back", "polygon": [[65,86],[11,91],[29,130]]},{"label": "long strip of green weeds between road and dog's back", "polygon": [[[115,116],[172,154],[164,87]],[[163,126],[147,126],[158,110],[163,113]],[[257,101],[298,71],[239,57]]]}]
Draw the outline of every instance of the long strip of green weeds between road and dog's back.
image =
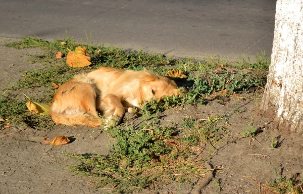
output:
[{"label": "long strip of green weeds between road and dog's back", "polygon": [[[65,44],[61,44],[61,42]],[[55,59],[57,52],[60,51],[66,56],[68,49],[74,50],[78,45],[87,48],[92,63],[90,67],[74,69],[67,66],[65,58]],[[147,68],[161,75],[177,68],[188,75],[187,80],[184,80],[185,83],[193,83],[193,87],[190,88],[191,93],[194,96],[204,97],[218,91],[239,93],[252,87],[262,88],[266,84],[267,70],[270,64],[265,54],[257,56],[256,62],[250,62],[249,59],[244,58],[236,62],[222,61],[219,55],[195,61],[191,58],[173,59],[162,54],[145,53],[142,50],[125,51],[114,46],[104,47],[93,43],[78,44],[72,37],[55,39],[53,42],[38,37],[27,37],[7,46],[17,49],[40,47],[46,51],[46,53],[31,56],[33,62],[44,63],[45,68],[27,72],[25,81],[20,83],[19,88],[29,87],[27,85],[49,86],[51,82],[63,83],[74,74],[87,72],[100,66],[132,70]]]}]

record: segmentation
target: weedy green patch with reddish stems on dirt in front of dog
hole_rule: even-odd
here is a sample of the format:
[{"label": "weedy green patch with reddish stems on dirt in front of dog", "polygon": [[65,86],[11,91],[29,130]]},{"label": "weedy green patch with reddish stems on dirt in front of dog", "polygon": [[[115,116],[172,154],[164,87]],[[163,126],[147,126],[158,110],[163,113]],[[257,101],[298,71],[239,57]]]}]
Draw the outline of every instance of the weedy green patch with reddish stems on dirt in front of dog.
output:
[{"label": "weedy green patch with reddish stems on dirt in front of dog", "polygon": [[[144,110],[144,109],[143,109]],[[145,109],[146,110],[146,109]],[[155,189],[172,181],[184,182],[206,173],[201,157],[202,144],[213,145],[225,135],[226,116],[208,121],[185,118],[183,126],[158,125],[159,112],[142,113],[145,121],[138,127],[109,129],[117,143],[111,154],[68,155],[77,160],[72,170],[83,176],[98,177],[97,186],[115,187],[113,192],[129,193],[148,186]],[[153,119],[151,119],[153,118]],[[80,164],[80,165],[79,165]]]}]

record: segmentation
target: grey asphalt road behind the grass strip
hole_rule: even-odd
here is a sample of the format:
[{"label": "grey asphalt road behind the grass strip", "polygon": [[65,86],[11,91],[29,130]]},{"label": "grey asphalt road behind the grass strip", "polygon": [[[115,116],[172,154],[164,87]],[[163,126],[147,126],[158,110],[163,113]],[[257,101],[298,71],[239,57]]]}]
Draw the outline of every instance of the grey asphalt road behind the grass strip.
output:
[{"label": "grey asphalt road behind the grass strip", "polygon": [[271,54],[276,0],[0,0],[0,36],[66,37],[171,56]]}]

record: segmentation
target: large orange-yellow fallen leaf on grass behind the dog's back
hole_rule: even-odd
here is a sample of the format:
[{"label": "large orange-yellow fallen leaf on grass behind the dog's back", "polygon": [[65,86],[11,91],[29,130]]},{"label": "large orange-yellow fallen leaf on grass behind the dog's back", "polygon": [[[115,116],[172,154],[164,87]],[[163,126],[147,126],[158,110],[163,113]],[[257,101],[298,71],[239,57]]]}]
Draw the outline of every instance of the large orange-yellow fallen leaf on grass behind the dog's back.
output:
[{"label": "large orange-yellow fallen leaf on grass behind the dog's back", "polygon": [[75,52],[68,53],[66,62],[70,67],[85,67],[91,64],[90,57],[86,55],[86,48],[81,46],[78,46]]}]

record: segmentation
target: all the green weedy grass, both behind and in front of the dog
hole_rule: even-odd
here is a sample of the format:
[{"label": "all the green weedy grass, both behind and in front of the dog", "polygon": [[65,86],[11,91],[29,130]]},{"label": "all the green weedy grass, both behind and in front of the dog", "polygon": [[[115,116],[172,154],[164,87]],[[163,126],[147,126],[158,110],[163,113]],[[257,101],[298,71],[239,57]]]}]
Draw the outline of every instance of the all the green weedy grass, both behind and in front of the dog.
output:
[{"label": "all the green weedy grass, both behind and in front of the dog", "polygon": [[[65,57],[69,50],[75,50],[78,45],[86,47],[92,65],[70,68],[65,58],[55,58],[57,52],[62,52]],[[38,37],[27,37],[6,46],[16,49],[39,47],[44,50],[42,54],[30,56],[32,62],[43,64],[42,69],[25,72],[21,81],[0,96],[2,119],[33,128],[52,125],[50,117],[27,111],[27,99],[13,97],[10,92],[43,90],[43,94],[36,99],[32,99],[30,92],[26,95],[33,101],[48,103],[56,91],[53,83],[60,85],[75,74],[86,73],[101,66],[132,70],[147,68],[161,75],[179,69],[187,75],[186,79],[175,81],[187,89],[188,93],[166,98],[163,102],[147,103],[139,112],[142,115],[140,119],[143,120],[139,126],[120,125],[108,130],[116,139],[110,155],[69,155],[77,161],[72,168],[75,173],[97,177],[98,187],[111,185],[116,188],[116,192],[124,193],[148,186],[157,189],[159,185],[172,181],[181,183],[203,177],[207,173],[204,161],[216,153],[216,145],[227,133],[225,122],[232,113],[214,115],[206,120],[183,118],[182,126],[171,123],[166,127],[160,125],[158,116],[166,109],[181,105],[200,105],[221,95],[260,92],[265,86],[270,64],[265,54],[258,55],[254,61],[249,58],[226,61],[221,60],[219,55],[200,61],[191,58],[174,59],[142,50],[128,52],[122,48],[95,45],[92,42],[79,44],[72,37],[51,42]],[[250,128],[245,131],[245,135],[253,133]],[[201,143],[209,148],[209,153],[204,156],[199,152]]]}]

